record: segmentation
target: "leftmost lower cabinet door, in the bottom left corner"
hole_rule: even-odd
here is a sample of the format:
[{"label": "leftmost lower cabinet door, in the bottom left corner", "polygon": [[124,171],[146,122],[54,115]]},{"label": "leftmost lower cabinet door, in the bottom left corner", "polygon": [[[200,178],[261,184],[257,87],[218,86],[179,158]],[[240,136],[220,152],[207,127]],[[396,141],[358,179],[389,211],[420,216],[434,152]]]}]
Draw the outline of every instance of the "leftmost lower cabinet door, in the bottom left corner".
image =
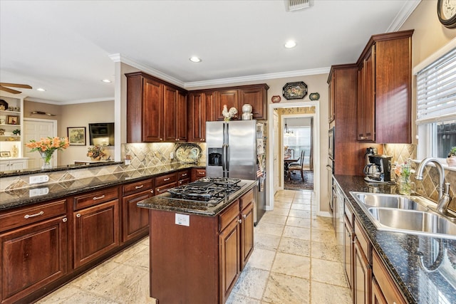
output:
[{"label": "leftmost lower cabinet door, in the bottom left corner", "polygon": [[0,235],[1,303],[16,303],[67,272],[67,221],[59,216]]}]

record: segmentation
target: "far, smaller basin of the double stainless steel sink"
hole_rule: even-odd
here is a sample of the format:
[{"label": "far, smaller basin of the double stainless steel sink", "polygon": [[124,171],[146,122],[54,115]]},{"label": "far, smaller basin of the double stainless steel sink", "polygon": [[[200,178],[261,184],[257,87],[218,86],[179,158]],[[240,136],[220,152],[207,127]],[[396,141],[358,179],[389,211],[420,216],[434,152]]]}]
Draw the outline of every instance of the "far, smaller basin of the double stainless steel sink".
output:
[{"label": "far, smaller basin of the double stainless steel sink", "polygon": [[[413,196],[403,196],[395,194],[371,194],[356,192],[353,195],[362,204],[371,207],[383,207],[394,209],[408,209],[426,211],[428,208],[424,204],[419,204]],[[417,198],[415,198],[418,200]]]}]

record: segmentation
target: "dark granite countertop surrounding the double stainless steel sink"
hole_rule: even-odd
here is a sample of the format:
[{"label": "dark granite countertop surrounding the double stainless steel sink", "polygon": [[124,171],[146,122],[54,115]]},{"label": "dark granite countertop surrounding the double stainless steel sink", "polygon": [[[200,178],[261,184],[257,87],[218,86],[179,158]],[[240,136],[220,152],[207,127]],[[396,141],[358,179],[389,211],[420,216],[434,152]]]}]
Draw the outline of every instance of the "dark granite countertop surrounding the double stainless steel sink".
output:
[{"label": "dark granite countertop surrounding the double stainless steel sink", "polygon": [[456,303],[456,240],[378,231],[350,192],[395,193],[363,177],[335,175],[375,251],[409,303]]}]

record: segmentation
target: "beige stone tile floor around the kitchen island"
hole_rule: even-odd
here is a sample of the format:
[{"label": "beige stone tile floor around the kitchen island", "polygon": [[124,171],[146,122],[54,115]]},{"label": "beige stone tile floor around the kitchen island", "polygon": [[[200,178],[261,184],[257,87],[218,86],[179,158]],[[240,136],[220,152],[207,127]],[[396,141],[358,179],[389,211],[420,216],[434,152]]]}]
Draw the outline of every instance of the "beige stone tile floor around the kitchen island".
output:
[{"label": "beige stone tile floor around the kitchen island", "polygon": [[[313,192],[276,194],[274,210],[254,229],[254,252],[227,303],[352,303],[331,219],[316,216],[315,208]],[[146,238],[38,303],[155,303],[148,257]]]}]

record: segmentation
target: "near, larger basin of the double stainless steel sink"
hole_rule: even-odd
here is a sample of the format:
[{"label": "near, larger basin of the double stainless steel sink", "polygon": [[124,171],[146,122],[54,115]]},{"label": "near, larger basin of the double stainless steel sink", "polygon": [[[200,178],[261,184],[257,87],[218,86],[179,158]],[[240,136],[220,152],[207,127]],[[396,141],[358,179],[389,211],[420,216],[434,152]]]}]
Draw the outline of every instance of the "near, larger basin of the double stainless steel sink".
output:
[{"label": "near, larger basin of the double stainless steel sink", "polygon": [[431,211],[369,208],[368,212],[378,224],[394,231],[456,239],[456,224]]}]

